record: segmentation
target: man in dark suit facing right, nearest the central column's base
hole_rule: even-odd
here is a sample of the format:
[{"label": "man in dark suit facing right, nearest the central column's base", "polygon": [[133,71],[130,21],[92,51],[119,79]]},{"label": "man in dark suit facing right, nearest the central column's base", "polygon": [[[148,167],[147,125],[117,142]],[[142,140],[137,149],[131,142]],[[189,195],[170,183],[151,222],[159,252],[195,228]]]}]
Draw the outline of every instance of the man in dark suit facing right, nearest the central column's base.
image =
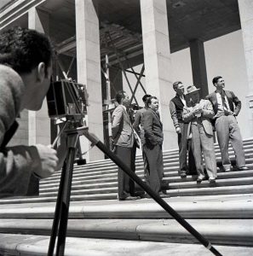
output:
[{"label": "man in dark suit facing right, nearest the central column's base", "polygon": [[141,125],[144,130],[145,142],[143,152],[147,160],[147,184],[157,194],[163,195],[161,183],[164,175],[163,161],[163,124],[158,114],[158,99],[151,96],[147,100],[148,109],[142,115]]}]

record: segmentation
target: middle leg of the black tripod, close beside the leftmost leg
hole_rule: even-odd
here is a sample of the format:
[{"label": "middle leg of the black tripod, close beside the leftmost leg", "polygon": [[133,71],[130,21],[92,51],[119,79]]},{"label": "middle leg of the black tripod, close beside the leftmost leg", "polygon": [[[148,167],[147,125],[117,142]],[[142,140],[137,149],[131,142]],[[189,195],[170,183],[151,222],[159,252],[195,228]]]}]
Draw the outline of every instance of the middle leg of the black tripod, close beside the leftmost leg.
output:
[{"label": "middle leg of the black tripod, close beside the leftmost leg", "polygon": [[56,248],[56,255],[64,255],[65,242],[66,242],[66,228],[69,212],[69,202],[71,195],[71,186],[72,186],[72,172],[73,172],[73,163],[75,160],[76,154],[76,144],[78,141],[78,133],[70,135],[70,141],[72,146],[68,149],[67,159],[66,159],[66,177],[63,187],[63,195],[61,201],[61,211],[60,211],[60,224],[58,231],[58,241]]}]

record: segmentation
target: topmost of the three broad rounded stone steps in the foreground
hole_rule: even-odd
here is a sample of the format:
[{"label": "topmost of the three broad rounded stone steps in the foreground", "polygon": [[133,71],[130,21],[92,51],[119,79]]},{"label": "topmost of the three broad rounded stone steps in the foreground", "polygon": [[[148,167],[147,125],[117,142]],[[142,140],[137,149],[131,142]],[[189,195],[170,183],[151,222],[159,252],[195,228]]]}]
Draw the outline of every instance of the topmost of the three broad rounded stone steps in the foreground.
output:
[{"label": "topmost of the three broad rounded stone steps in the foreground", "polygon": [[[252,218],[253,194],[165,198],[183,218]],[[53,218],[55,203],[5,204],[0,218]],[[137,201],[72,201],[69,218],[171,218],[152,199]]]}]

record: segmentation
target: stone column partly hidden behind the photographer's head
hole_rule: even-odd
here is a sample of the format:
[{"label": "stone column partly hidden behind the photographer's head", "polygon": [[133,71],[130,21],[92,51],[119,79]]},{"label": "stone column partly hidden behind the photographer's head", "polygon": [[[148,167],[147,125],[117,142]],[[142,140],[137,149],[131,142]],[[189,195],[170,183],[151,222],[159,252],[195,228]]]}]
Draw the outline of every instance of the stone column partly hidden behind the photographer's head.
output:
[{"label": "stone column partly hidden behind the photographer's head", "polygon": [[[28,28],[35,29],[37,32],[49,33],[49,14],[36,8],[28,11]],[[50,119],[46,100],[42,108],[35,111],[28,111],[29,144],[50,144]]]}]

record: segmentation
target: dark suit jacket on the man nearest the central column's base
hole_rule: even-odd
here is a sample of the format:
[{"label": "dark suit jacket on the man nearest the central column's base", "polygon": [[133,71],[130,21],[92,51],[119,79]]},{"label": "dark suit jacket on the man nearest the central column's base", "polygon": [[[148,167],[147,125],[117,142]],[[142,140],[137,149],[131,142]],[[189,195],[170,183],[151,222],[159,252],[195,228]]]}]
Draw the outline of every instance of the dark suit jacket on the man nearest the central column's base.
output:
[{"label": "dark suit jacket on the man nearest the central column's base", "polygon": [[151,108],[148,108],[142,115],[141,123],[144,130],[146,145],[162,145],[164,142],[163,124]]}]

